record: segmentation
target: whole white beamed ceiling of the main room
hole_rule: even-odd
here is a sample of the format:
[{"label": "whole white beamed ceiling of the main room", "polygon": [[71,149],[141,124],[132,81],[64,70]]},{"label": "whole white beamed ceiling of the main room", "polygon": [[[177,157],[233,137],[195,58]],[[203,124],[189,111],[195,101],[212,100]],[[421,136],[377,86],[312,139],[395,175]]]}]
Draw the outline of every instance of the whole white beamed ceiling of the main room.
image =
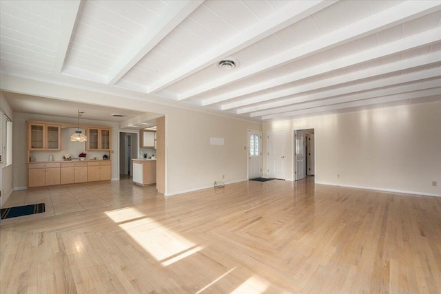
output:
[{"label": "whole white beamed ceiling of the main room", "polygon": [[260,121],[441,100],[441,1],[0,4],[10,76]]}]

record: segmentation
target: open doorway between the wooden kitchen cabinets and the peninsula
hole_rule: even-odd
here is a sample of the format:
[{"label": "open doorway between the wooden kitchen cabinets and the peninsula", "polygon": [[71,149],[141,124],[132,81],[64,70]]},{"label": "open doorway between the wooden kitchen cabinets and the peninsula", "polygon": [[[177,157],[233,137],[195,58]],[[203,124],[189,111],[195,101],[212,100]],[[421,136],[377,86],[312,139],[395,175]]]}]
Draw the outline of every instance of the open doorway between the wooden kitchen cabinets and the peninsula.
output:
[{"label": "open doorway between the wooden kitchen cabinets and the peninsula", "polygon": [[132,159],[138,156],[138,133],[119,133],[119,174],[121,178],[133,176]]}]

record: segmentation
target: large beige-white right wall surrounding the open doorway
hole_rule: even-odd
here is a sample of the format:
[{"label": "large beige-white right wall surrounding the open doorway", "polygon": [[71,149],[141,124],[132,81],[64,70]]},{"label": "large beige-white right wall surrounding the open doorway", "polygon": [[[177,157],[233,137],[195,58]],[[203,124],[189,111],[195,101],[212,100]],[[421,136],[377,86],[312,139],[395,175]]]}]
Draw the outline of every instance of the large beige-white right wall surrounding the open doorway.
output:
[{"label": "large beige-white right wall surrounding the open doorway", "polygon": [[265,123],[265,134],[287,130],[288,180],[293,129],[309,127],[315,127],[317,183],[441,196],[440,102]]}]

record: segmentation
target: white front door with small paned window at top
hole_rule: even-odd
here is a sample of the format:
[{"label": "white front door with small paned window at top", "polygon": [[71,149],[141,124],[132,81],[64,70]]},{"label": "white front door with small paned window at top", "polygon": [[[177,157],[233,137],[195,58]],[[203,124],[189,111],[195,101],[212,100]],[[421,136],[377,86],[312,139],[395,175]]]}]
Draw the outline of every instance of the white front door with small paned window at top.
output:
[{"label": "white front door with small paned window at top", "polygon": [[248,130],[248,178],[262,176],[262,132]]}]

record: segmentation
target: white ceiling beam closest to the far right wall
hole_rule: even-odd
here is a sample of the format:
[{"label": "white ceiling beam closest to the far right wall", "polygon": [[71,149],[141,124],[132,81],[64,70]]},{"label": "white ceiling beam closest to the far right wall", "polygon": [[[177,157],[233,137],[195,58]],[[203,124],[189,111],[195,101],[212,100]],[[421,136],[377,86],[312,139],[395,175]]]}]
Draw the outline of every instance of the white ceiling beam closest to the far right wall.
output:
[{"label": "white ceiling beam closest to the far right wall", "polygon": [[269,120],[274,118],[295,118],[295,116],[302,116],[305,114],[318,114],[320,112],[329,112],[333,110],[338,109],[345,109],[345,108],[351,108],[351,107],[360,107],[360,106],[367,106],[367,105],[375,105],[375,104],[381,104],[381,103],[389,103],[389,102],[395,102],[395,101],[402,101],[407,99],[415,99],[415,98],[423,98],[423,97],[429,97],[429,96],[435,96],[441,94],[441,87],[429,89],[429,90],[422,90],[417,92],[407,92],[403,94],[396,94],[391,96],[382,96],[377,98],[371,98],[365,101],[353,101],[348,103],[341,103],[337,105],[329,105],[329,106],[322,106],[322,107],[316,107],[311,109],[302,109],[297,110],[294,112],[286,112],[285,114],[271,114],[269,116],[262,116],[263,120]]}]

